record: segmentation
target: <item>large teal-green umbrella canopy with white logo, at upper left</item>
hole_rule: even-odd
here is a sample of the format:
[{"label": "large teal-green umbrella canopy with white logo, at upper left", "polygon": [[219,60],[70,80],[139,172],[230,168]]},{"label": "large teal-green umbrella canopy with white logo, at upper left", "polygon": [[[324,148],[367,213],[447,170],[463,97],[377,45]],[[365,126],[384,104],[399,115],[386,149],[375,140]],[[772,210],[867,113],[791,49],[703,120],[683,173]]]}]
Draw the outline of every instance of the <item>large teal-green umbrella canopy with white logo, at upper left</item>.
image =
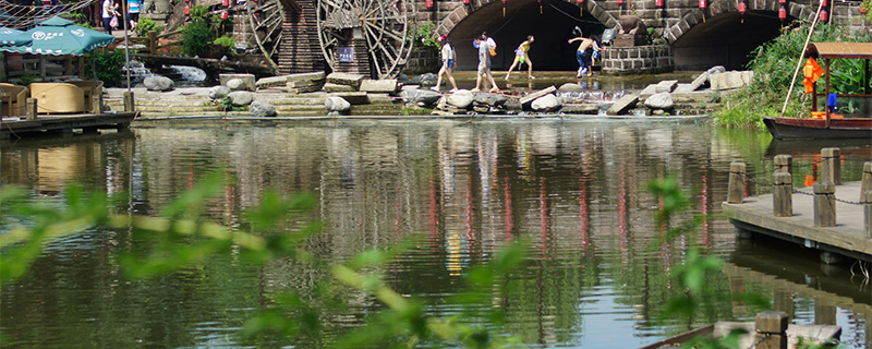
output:
[{"label": "large teal-green umbrella canopy with white logo, at upper left", "polygon": [[116,41],[109,34],[75,25],[59,16],[39,23],[23,35],[33,39],[31,45],[3,46],[0,50],[33,55],[81,56]]}]

